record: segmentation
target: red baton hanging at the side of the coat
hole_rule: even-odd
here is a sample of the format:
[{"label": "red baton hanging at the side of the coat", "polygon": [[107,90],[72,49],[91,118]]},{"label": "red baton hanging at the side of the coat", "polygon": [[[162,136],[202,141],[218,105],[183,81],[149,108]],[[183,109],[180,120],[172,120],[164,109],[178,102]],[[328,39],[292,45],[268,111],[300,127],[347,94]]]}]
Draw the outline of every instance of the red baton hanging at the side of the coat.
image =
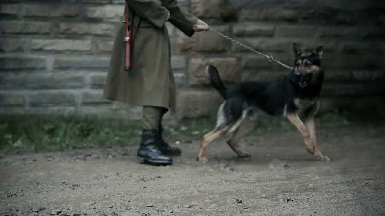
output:
[{"label": "red baton hanging at the side of the coat", "polygon": [[129,71],[131,69],[131,61],[130,61],[130,51],[131,51],[131,30],[132,30],[132,10],[128,7],[127,3],[124,8],[124,23],[126,23],[126,31],[124,34],[124,45],[125,45],[125,53],[126,57],[124,59],[124,70]]}]

